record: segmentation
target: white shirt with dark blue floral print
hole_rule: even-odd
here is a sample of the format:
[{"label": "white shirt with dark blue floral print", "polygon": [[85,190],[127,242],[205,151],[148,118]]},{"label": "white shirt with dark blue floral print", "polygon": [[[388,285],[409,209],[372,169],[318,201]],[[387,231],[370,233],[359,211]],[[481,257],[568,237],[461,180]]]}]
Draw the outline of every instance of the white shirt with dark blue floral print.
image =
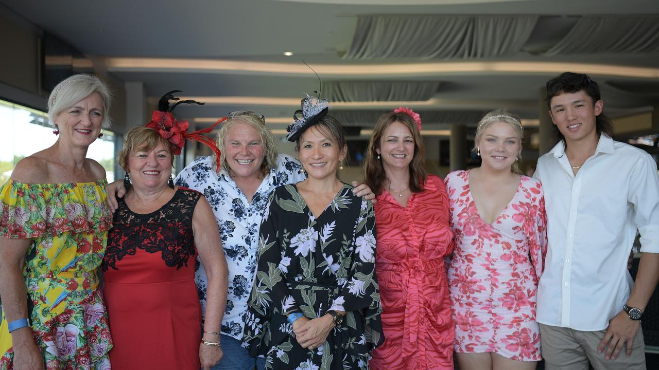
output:
[{"label": "white shirt with dark blue floral print", "polygon": [[[176,184],[202,192],[213,209],[224,255],[229,267],[229,292],[222,318],[221,332],[241,340],[247,300],[256,273],[258,230],[266,213],[272,191],[280,185],[295,184],[306,178],[302,166],[295,159],[280,154],[277,168],[271,169],[248,202],[227,171],[215,172],[213,157],[199,157],[176,177]],[[204,266],[197,263],[195,282],[206,312],[208,278]]]}]

